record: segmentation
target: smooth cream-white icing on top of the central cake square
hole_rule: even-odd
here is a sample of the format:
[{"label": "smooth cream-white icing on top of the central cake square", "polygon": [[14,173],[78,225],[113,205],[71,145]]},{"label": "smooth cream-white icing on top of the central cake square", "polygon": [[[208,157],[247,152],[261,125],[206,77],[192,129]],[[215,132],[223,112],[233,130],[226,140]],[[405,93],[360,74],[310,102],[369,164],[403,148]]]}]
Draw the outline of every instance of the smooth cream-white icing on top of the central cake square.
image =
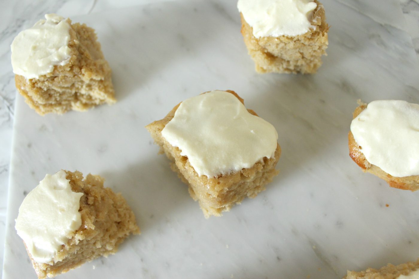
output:
[{"label": "smooth cream-white icing on top of the central cake square", "polygon": [[181,149],[199,176],[250,168],[274,156],[278,134],[231,93],[211,91],[181,103],[162,136]]}]

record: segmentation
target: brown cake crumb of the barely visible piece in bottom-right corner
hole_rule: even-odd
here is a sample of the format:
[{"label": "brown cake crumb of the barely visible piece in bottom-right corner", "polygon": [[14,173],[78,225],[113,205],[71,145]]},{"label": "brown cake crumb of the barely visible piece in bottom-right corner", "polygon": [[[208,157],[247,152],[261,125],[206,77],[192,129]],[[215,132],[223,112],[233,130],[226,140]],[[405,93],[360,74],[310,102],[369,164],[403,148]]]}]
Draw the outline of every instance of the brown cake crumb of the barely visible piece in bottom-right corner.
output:
[{"label": "brown cake crumb of the barely visible piece in bottom-right corner", "polygon": [[380,269],[368,268],[364,271],[347,271],[344,279],[396,279],[400,275],[409,275],[412,271],[419,269],[419,258],[416,262],[408,262],[394,266],[388,264]]}]

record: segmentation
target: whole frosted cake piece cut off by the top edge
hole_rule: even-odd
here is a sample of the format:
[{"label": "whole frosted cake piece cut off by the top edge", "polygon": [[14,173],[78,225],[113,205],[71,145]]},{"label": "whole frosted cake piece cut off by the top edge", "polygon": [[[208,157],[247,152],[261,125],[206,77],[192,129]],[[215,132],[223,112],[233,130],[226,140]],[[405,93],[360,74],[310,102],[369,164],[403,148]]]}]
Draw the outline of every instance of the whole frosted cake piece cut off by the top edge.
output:
[{"label": "whole frosted cake piece cut off by the top edge", "polygon": [[317,0],[239,0],[241,34],[256,72],[315,73],[328,24]]}]

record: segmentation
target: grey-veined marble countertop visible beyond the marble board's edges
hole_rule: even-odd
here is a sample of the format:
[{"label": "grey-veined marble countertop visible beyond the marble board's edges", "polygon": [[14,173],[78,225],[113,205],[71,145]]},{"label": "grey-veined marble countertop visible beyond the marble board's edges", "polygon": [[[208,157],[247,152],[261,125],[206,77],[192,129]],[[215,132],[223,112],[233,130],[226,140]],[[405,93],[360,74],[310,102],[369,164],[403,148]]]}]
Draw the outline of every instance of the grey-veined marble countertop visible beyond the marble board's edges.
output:
[{"label": "grey-veined marble countertop visible beyond the marble board's edges", "polygon": [[[142,3],[145,2],[153,1],[142,0]],[[2,4],[3,8],[0,10],[0,274],[3,267],[10,150],[16,98],[16,90],[10,86],[14,83],[10,65],[10,44],[13,38],[22,29],[32,26],[45,13],[72,17],[137,4],[136,0],[21,0],[6,1]],[[419,0],[400,0],[400,9],[406,22],[398,27],[405,29],[411,35],[419,62]],[[360,12],[374,18],[373,13],[370,15],[369,11]]]}]

